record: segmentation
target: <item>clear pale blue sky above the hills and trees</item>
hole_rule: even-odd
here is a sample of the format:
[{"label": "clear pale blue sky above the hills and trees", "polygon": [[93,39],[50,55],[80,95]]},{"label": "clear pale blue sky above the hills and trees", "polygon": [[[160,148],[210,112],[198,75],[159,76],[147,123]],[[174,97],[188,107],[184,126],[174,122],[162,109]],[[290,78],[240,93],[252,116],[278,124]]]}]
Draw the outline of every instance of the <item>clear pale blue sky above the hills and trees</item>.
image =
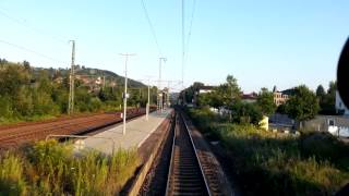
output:
[{"label": "clear pale blue sky above the hills and trees", "polygon": [[[144,0],[158,44],[168,58],[165,79],[181,79],[181,1]],[[186,35],[193,0],[185,0]],[[123,75],[120,52],[135,52],[129,75],[158,75],[158,49],[141,0],[1,0],[0,40],[29,48],[57,61],[0,41],[0,58],[36,66],[70,61]],[[327,87],[349,35],[348,0],[196,0],[184,84],[215,85],[227,74],[246,93],[300,84]]]}]

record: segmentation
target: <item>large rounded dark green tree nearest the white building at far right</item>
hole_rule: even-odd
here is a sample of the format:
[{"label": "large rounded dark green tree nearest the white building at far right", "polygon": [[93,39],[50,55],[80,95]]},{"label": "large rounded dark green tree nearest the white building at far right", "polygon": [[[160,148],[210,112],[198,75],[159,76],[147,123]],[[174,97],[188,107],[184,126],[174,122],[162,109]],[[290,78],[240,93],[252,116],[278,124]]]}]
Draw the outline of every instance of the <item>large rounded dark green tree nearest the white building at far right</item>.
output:
[{"label": "large rounded dark green tree nearest the white building at far right", "polygon": [[294,95],[286,102],[286,112],[300,123],[314,119],[320,110],[316,95],[305,85],[294,88]]}]

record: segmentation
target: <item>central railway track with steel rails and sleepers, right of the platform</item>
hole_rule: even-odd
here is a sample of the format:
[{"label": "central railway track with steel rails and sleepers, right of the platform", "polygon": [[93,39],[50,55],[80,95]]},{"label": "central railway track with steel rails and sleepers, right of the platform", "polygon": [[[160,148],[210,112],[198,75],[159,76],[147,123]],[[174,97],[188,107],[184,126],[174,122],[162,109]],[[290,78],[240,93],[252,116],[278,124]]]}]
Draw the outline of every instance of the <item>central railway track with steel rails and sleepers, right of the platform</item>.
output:
[{"label": "central railway track with steel rails and sleepers, right of the platform", "polygon": [[212,195],[210,192],[193,139],[178,112],[166,195]]}]

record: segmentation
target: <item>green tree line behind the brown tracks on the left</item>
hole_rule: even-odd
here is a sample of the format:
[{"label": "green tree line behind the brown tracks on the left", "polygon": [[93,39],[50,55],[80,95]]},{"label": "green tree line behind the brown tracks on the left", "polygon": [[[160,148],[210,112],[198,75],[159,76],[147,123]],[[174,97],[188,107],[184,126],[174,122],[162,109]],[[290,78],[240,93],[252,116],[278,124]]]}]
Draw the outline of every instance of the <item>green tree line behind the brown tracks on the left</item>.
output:
[{"label": "green tree line behind the brown tracks on the left", "polygon": [[[0,59],[0,123],[31,121],[65,114],[69,97],[69,70],[50,74],[48,70],[35,69],[27,61],[8,62]],[[55,78],[60,76],[61,82]],[[121,84],[122,85],[122,84]],[[75,83],[75,112],[96,112],[120,109],[123,87],[105,86],[97,91]],[[152,87],[152,100],[156,101],[156,87]],[[129,90],[129,106],[144,107],[147,87]]]}]

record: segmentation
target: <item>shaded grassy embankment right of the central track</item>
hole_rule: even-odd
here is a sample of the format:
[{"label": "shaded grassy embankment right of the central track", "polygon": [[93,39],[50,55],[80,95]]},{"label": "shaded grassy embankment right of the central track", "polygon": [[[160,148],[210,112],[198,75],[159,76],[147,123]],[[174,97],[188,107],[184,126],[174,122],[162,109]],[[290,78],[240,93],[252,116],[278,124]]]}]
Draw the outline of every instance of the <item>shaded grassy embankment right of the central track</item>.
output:
[{"label": "shaded grassy embankment right of the central track", "polygon": [[329,134],[294,137],[228,123],[208,109],[188,113],[220,140],[246,195],[332,195],[349,183],[349,146]]}]

